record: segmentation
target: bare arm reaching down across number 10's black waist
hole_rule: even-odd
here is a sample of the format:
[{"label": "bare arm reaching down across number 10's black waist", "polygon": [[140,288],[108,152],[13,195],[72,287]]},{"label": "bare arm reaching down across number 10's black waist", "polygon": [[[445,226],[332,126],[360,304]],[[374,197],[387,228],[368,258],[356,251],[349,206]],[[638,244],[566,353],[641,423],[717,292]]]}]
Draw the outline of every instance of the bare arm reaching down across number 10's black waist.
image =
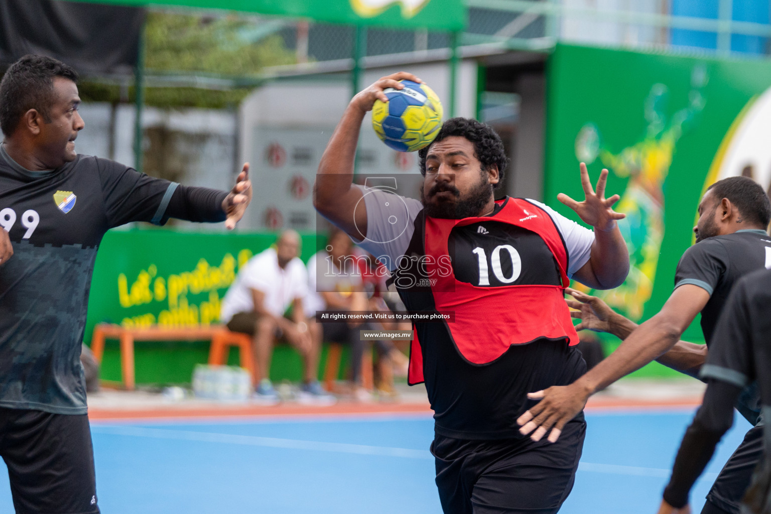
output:
[{"label": "bare arm reaching down across number 10's black waist", "polygon": [[551,429],[548,439],[557,441],[565,423],[581,412],[591,395],[675,346],[707,301],[709,293],[699,286],[685,284],[675,289],[658,314],[641,324],[616,351],[577,381],[529,393],[527,398],[540,401],[517,419],[522,427],[520,432],[532,432],[530,438],[539,441]]}]

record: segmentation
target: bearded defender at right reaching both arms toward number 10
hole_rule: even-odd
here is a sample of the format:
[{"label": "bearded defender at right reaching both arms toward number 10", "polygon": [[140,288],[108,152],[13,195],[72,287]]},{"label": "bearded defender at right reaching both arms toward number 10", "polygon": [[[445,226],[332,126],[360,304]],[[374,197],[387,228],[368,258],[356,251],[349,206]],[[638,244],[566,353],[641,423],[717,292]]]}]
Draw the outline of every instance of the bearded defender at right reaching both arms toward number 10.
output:
[{"label": "bearded defender at right reaching both arms toward number 10", "polygon": [[[601,329],[625,341],[574,384],[547,389],[544,400],[520,420],[525,430],[534,426],[559,426],[561,420],[571,417],[571,412],[583,408],[594,391],[654,359],[689,375],[699,373],[705,358],[704,348],[678,338],[701,312],[702,331],[710,347],[716,341],[715,324],[736,281],[752,271],[771,267],[771,237],[765,231],[771,219],[771,203],[759,184],[746,177],[732,177],[709,187],[699,204],[699,215],[694,229],[697,244],[680,259],[675,272],[675,291],[662,311],[639,328],[614,314],[607,328]],[[582,294],[576,293],[574,297],[588,301]],[[594,304],[600,310],[607,309],[596,300]],[[611,325],[614,328],[611,329]],[[701,369],[702,374],[707,369],[709,366]],[[736,402],[737,410],[753,428],[715,479],[702,510],[704,514],[739,513],[739,500],[763,450],[758,401],[756,385],[750,384]],[[545,418],[548,421],[544,423]],[[683,505],[665,507],[682,508]]]}]

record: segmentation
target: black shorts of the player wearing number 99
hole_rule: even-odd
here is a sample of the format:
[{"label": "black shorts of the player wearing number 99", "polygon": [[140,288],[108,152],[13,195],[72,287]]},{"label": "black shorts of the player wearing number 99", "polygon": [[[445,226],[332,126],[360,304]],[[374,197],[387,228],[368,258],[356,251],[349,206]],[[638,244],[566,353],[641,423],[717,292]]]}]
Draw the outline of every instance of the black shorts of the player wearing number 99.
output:
[{"label": "black shorts of the player wearing number 99", "polygon": [[17,514],[99,512],[88,415],[0,408],[0,456]]}]

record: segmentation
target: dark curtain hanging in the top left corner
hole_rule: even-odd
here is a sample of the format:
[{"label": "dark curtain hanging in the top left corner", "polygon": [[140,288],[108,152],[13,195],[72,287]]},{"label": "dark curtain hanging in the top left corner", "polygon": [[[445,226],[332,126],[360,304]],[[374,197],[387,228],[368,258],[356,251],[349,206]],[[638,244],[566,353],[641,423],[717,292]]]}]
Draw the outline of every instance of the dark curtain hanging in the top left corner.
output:
[{"label": "dark curtain hanging in the top left corner", "polygon": [[136,65],[144,15],[136,7],[0,0],[0,68],[35,53],[81,73],[129,73]]}]

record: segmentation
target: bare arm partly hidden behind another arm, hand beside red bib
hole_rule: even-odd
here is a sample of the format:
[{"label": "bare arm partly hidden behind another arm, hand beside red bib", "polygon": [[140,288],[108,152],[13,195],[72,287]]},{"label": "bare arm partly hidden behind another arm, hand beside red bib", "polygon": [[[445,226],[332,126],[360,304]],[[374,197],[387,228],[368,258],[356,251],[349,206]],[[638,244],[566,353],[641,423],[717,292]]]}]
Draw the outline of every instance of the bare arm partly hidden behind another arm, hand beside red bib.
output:
[{"label": "bare arm partly hidden behind another arm, hand beside red bib", "polygon": [[[581,323],[576,325],[576,330],[607,332],[624,340],[635,328],[638,328],[638,324],[621,316],[596,296],[581,293],[581,291],[576,291],[570,287],[565,292],[575,298],[575,300],[567,300],[567,306],[576,309],[571,311],[571,316],[581,320]],[[699,378],[699,370],[706,358],[707,347],[705,344],[681,340],[677,341],[670,351],[657,358],[656,361],[685,375]]]}]

